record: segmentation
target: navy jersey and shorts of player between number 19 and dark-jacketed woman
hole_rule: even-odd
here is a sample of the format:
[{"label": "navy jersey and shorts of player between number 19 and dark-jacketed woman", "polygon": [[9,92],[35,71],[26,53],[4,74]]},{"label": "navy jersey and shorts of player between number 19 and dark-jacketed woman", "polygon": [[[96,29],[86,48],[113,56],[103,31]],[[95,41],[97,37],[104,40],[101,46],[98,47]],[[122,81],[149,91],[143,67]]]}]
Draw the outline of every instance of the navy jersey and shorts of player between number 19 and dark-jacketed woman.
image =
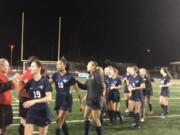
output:
[{"label": "navy jersey and shorts of player between number 19 and dark-jacketed woman", "polygon": [[61,76],[56,72],[53,74],[52,79],[56,86],[55,110],[71,111],[73,101],[70,87],[76,83],[75,78],[70,73]]}]

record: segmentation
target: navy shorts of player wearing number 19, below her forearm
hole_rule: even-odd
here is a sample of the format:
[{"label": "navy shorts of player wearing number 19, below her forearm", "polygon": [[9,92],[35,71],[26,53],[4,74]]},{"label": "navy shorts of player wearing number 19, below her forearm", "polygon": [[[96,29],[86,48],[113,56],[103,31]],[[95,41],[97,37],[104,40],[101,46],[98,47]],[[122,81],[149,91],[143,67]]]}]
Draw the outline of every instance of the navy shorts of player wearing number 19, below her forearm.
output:
[{"label": "navy shorts of player wearing number 19, below her forearm", "polygon": [[52,115],[47,104],[36,104],[28,109],[26,123],[45,127],[51,123]]}]

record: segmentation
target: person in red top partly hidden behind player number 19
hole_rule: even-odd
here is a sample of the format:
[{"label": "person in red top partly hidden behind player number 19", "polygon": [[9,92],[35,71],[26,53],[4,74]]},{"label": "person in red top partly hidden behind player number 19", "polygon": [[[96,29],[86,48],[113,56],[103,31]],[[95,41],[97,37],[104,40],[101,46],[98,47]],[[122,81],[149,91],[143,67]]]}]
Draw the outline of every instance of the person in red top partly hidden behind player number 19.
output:
[{"label": "person in red top partly hidden behind player number 19", "polygon": [[23,107],[23,103],[30,99],[28,92],[24,89],[25,84],[32,79],[31,68],[30,65],[32,61],[38,59],[36,56],[31,56],[28,59],[28,68],[25,73],[22,75],[16,75],[15,79],[17,79],[17,87],[19,89],[17,96],[19,98],[19,116],[21,117],[20,125],[18,128],[19,135],[24,135],[24,127],[26,123],[26,114],[27,108]]}]

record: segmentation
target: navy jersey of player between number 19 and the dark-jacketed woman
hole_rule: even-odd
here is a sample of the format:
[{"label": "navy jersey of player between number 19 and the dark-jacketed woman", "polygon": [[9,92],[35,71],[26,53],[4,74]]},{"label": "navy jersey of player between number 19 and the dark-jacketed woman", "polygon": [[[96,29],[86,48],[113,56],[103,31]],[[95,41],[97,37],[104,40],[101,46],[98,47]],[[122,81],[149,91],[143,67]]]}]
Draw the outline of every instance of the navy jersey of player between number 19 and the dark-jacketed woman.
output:
[{"label": "navy jersey of player between number 19 and the dark-jacketed woman", "polygon": [[76,83],[75,78],[70,73],[66,73],[63,76],[56,72],[52,76],[55,82],[57,94],[71,94],[70,87]]}]

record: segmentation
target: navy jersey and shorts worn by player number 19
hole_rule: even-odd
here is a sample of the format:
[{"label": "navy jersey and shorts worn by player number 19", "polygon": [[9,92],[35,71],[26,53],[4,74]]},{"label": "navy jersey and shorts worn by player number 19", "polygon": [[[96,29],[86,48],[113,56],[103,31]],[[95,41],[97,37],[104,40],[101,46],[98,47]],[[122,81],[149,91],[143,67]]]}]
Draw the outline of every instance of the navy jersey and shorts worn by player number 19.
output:
[{"label": "navy jersey and shorts worn by player number 19", "polygon": [[[25,86],[30,95],[30,99],[40,99],[46,96],[46,92],[51,92],[52,88],[47,78],[42,77],[35,81],[32,79]],[[45,127],[51,122],[51,112],[47,103],[37,103],[28,108],[26,123]]]}]

